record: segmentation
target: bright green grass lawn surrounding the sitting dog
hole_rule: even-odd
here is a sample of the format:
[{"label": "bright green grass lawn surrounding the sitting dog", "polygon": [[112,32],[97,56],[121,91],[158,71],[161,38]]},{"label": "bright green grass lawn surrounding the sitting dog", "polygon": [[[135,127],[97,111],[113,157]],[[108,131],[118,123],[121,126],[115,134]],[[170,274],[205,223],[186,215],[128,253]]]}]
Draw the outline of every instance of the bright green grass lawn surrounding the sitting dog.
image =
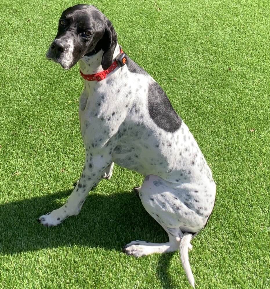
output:
[{"label": "bright green grass lawn surrounding the sitting dog", "polygon": [[[45,59],[75,3],[0,6],[0,288],[188,288],[178,253],[121,253],[134,239],[167,240],[132,193],[135,172],[116,166],[77,217],[37,223],[64,203],[84,163],[78,66]],[[215,208],[189,254],[197,287],[270,288],[270,2],[91,3],[164,88],[213,171]]]}]

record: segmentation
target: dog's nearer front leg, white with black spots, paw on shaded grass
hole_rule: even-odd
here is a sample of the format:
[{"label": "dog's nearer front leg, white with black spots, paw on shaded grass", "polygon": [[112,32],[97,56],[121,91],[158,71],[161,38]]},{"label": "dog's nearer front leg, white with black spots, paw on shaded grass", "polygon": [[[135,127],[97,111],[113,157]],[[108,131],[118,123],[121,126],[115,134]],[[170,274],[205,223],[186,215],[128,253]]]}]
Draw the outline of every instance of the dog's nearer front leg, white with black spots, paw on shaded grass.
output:
[{"label": "dog's nearer front leg, white with black spots, paw on shaded grass", "polygon": [[103,178],[112,162],[111,155],[103,150],[91,151],[90,155],[86,158],[81,178],[67,202],[59,209],[39,217],[40,223],[45,226],[57,226],[67,217],[79,214],[88,192]]}]

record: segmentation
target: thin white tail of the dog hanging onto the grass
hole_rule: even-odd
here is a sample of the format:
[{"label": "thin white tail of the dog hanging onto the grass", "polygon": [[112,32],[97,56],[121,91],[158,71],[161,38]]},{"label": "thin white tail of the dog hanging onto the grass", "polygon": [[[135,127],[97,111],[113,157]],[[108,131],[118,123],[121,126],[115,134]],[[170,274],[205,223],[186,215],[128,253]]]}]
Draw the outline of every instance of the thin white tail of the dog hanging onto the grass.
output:
[{"label": "thin white tail of the dog hanging onto the grass", "polygon": [[180,258],[183,265],[183,268],[186,272],[186,277],[189,280],[190,285],[195,288],[195,280],[193,274],[191,272],[190,264],[189,264],[189,250],[192,250],[191,241],[192,234],[184,233],[179,246]]}]

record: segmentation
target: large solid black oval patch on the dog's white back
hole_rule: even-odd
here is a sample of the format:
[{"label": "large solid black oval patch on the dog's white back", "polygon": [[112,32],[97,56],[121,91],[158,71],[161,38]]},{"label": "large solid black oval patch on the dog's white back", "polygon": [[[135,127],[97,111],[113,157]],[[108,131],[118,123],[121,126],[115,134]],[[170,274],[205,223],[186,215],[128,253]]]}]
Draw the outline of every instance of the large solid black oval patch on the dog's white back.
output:
[{"label": "large solid black oval patch on the dog's white back", "polygon": [[156,82],[148,87],[148,111],[155,124],[168,132],[175,132],[182,124],[166,93]]}]

